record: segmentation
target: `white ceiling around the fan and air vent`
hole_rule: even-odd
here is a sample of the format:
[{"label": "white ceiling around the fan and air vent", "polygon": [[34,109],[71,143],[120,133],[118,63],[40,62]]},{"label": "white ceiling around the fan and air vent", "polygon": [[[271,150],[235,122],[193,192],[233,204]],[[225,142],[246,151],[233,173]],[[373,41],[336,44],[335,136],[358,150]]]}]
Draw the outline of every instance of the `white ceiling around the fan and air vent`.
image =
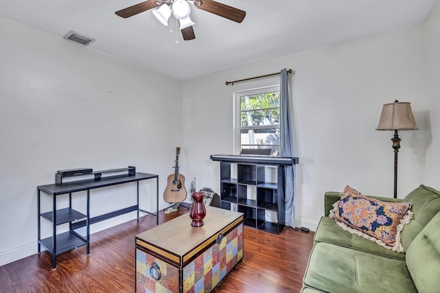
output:
[{"label": "white ceiling around the fan and air vent", "polygon": [[196,38],[189,41],[181,38],[173,17],[165,27],[151,10],[128,19],[114,14],[140,2],[2,0],[0,14],[60,37],[73,30],[96,39],[90,48],[188,80],[412,25],[428,17],[436,0],[219,0],[245,10],[243,23],[192,6]]}]

